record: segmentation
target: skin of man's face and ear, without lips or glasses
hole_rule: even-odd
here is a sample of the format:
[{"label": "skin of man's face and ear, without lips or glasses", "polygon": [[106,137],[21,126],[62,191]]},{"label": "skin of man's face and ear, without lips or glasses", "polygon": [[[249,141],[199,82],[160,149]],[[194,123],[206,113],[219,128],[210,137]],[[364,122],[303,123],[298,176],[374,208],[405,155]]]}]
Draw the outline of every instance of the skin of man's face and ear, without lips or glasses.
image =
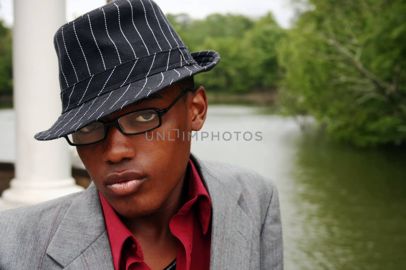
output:
[{"label": "skin of man's face and ear, without lips or glasses", "polygon": [[[102,119],[112,121],[125,113],[144,108],[168,107],[186,89],[178,84],[159,92],[160,98],[145,100],[123,108]],[[115,126],[108,128],[107,137],[94,145],[77,147],[78,154],[97,189],[111,206],[123,217],[135,218],[150,215],[173,203],[179,197],[190,156],[188,132],[200,130],[207,111],[207,97],[203,87],[188,93],[186,102],[181,98],[165,115],[162,125],[147,133],[124,135]],[[179,129],[180,136],[177,138]],[[185,140],[182,132],[185,132]],[[153,135],[152,135],[153,132]],[[159,137],[165,132],[165,140]],[[170,132],[171,140],[168,140]],[[131,194],[117,195],[108,182],[114,175],[135,172],[145,176],[145,181]],[[114,177],[113,177],[114,178]]]}]

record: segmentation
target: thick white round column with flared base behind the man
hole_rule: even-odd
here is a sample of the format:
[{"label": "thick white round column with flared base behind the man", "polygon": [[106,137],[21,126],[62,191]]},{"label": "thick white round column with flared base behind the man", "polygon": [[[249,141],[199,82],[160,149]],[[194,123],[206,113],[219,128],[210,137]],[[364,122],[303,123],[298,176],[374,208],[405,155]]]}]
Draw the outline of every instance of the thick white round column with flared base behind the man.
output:
[{"label": "thick white round column with flared base behind the man", "polygon": [[37,141],[60,115],[54,34],[65,23],[65,0],[14,0],[13,81],[15,179],[0,209],[35,204],[83,190],[71,177],[65,139]]}]

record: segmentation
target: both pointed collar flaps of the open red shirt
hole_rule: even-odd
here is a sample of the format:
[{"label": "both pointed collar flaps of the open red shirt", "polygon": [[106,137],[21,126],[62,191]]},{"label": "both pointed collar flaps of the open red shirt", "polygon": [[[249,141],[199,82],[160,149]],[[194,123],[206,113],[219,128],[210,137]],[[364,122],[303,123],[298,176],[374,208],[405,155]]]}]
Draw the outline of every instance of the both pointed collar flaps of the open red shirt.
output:
[{"label": "both pointed collar flaps of the open red shirt", "polygon": [[[209,229],[212,205],[209,194],[203,182],[197,172],[196,167],[194,166],[192,159],[189,159],[190,174],[189,174],[189,191],[188,191],[188,201],[181,207],[178,214],[182,215],[187,213],[192,206],[197,203],[197,215],[199,217],[200,225],[203,234],[207,234]],[[110,246],[112,249],[112,257],[114,261],[115,269],[119,269],[121,254],[123,250],[123,245],[127,238],[132,238],[134,243],[136,243],[136,254],[138,255],[137,261],[143,261],[144,255],[142,249],[135,239],[134,235],[121,221],[117,212],[112,208],[110,203],[104,198],[102,193],[99,191],[100,201],[102,202],[102,208],[104,212],[104,218],[106,221],[106,228],[108,233],[108,238],[110,240]],[[172,219],[171,219],[172,221]]]}]

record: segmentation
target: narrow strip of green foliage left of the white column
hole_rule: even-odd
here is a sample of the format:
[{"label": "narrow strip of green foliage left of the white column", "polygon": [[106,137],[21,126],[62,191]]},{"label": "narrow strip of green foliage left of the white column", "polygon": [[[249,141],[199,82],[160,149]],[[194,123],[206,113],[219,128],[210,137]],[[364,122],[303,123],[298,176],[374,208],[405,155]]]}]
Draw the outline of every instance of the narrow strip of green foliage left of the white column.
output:
[{"label": "narrow strip of green foliage left of the white column", "polygon": [[13,93],[12,33],[0,21],[0,99]]}]

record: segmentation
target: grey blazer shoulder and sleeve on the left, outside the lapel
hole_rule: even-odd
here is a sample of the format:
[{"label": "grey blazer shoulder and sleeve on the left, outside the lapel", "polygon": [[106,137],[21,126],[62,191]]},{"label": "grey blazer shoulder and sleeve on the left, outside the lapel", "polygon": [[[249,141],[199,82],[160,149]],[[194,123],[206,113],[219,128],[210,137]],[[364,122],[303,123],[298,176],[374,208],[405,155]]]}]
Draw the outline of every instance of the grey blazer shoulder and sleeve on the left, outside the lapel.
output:
[{"label": "grey blazer shoulder and sleeve on the left, outside the lapel", "polygon": [[[67,210],[82,192],[0,212],[0,269],[28,269],[26,264],[42,261]],[[16,263],[15,258],[24,260]]]}]

